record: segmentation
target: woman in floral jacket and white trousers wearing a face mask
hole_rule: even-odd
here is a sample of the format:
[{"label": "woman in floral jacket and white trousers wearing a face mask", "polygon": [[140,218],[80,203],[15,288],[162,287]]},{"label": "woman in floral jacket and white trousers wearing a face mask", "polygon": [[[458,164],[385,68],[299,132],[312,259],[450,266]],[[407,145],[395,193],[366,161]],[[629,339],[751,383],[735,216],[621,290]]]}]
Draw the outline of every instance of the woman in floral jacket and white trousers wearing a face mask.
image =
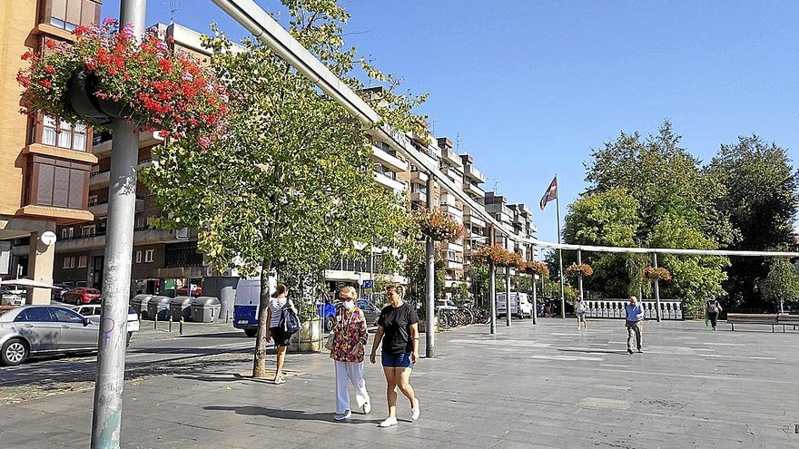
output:
[{"label": "woman in floral jacket and white trousers wearing a face mask", "polygon": [[363,311],[355,306],[355,288],[341,288],[339,299],[343,307],[336,322],[335,339],[330,358],[336,363],[336,415],[342,421],[352,415],[350,411],[350,383],[355,387],[355,399],[364,414],[371,410],[369,393],[363,380],[363,346],[369,339]]}]

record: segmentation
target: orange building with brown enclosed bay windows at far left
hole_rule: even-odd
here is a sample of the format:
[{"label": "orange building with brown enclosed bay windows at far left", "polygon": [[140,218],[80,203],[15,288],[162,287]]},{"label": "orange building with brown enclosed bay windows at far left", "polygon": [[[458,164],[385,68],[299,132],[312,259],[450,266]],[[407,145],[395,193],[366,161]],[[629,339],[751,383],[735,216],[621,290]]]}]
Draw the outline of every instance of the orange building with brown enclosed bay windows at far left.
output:
[{"label": "orange building with brown enclosed bay windows at far left", "polygon": [[[101,0],[15,0],[0,15],[0,275],[54,280],[57,243],[45,232],[94,220],[88,210],[89,175],[97,163],[92,130],[70,126],[46,113],[18,113],[20,56],[47,41],[71,41],[71,31],[100,18]],[[13,5],[12,5],[13,4]],[[50,243],[49,245],[46,243]],[[35,288],[30,302],[46,304],[50,290]]]}]

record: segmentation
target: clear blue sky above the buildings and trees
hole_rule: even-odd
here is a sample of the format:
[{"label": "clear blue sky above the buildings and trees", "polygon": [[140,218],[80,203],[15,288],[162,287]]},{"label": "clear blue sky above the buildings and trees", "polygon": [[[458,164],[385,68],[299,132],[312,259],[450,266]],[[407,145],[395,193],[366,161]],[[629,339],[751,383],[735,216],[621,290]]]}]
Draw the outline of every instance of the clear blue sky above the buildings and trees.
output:
[{"label": "clear blue sky above the buildings and trees", "polygon": [[[147,23],[169,22],[149,0]],[[175,22],[232,37],[243,29],[210,0],[178,0]],[[257,0],[267,9],[277,0]],[[710,161],[720,143],[756,133],[799,159],[799,8],[790,1],[343,1],[350,44],[429,93],[420,112],[437,136],[475,157],[486,189],[534,210],[538,238],[585,189],[592,148],[671,120],[683,146]],[[103,15],[119,3],[105,0]]]}]

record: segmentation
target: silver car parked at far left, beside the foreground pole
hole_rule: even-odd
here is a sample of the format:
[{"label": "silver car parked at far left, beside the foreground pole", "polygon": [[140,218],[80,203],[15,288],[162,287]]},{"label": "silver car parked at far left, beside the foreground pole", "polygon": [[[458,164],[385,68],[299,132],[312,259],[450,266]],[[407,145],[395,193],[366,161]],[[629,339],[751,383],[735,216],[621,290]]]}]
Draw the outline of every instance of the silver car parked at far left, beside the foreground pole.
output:
[{"label": "silver car parked at far left, beside the foreground pole", "polygon": [[0,365],[19,365],[28,356],[97,350],[100,325],[69,308],[24,306],[0,313]]}]

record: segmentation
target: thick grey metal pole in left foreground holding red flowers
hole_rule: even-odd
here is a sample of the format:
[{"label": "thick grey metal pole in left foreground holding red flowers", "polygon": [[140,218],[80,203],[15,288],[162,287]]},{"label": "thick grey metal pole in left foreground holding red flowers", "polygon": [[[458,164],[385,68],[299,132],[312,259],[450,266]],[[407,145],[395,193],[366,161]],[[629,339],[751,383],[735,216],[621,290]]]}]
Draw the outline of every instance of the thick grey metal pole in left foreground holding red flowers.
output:
[{"label": "thick grey metal pole in left foreground holding red flowers", "polygon": [[[146,6],[146,0],[121,0],[120,27],[131,24],[136,38],[141,38],[144,33]],[[92,449],[119,448],[136,210],[139,137],[133,122],[128,120],[115,119],[111,128],[111,180],[108,188],[108,231],[103,279],[105,294],[100,315],[97,377],[94,383]]]}]

